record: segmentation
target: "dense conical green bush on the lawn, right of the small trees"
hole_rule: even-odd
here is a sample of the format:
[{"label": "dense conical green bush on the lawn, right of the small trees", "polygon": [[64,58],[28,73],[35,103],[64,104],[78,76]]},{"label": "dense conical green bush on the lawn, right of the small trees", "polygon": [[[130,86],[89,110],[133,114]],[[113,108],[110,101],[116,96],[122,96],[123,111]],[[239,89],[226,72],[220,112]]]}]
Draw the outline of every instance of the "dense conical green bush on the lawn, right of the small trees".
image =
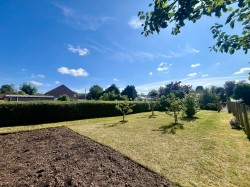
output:
[{"label": "dense conical green bush on the lawn, right of the small trees", "polygon": [[199,109],[195,95],[192,94],[185,95],[183,104],[184,104],[183,107],[184,114],[189,118],[194,117],[194,115],[197,113]]}]

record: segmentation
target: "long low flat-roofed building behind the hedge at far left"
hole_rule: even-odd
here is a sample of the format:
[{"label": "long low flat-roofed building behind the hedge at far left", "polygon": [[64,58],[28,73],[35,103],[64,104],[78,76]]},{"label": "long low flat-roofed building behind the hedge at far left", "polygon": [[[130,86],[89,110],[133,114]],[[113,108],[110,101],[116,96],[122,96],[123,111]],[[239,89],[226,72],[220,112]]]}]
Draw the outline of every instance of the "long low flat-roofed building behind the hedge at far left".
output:
[{"label": "long low flat-roofed building behind the hedge at far left", "polygon": [[5,95],[5,101],[48,101],[54,100],[53,96],[46,95]]}]

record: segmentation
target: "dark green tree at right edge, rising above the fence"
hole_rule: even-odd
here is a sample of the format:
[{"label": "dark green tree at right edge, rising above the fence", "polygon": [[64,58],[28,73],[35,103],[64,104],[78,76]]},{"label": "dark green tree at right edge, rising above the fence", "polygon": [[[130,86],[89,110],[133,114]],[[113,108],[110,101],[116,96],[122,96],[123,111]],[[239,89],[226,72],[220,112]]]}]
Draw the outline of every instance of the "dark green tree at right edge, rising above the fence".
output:
[{"label": "dark green tree at right edge, rising above the fence", "polygon": [[234,99],[242,99],[246,105],[250,105],[250,84],[237,84],[233,91]]}]

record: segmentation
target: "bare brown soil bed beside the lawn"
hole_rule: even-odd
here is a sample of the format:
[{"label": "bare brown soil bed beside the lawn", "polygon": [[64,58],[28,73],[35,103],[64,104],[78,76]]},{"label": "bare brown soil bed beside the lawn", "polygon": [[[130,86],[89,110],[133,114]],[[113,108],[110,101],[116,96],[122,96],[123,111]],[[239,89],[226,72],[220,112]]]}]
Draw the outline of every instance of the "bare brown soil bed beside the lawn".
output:
[{"label": "bare brown soil bed beside the lawn", "polygon": [[0,186],[171,186],[170,181],[72,130],[0,135]]}]

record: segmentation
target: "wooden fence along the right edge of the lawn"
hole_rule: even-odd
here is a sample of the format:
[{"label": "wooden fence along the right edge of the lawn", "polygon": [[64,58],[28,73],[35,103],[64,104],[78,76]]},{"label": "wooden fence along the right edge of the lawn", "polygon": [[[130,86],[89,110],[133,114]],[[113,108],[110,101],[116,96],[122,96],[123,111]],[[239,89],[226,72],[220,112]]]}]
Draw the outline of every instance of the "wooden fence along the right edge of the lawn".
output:
[{"label": "wooden fence along the right edge of the lawn", "polygon": [[240,102],[227,102],[228,112],[233,113],[241,128],[245,131],[247,138],[250,139],[250,106]]}]

